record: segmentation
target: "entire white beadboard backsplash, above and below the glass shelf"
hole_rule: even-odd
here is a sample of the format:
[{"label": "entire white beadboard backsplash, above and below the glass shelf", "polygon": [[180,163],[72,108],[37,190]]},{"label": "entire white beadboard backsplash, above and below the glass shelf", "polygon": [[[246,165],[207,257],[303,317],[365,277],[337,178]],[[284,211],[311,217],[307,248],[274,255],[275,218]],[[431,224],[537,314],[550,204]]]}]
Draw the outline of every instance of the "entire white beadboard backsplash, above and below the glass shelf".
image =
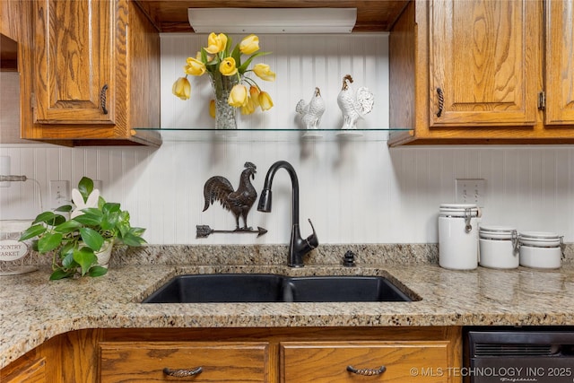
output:
[{"label": "entire white beadboard backsplash, above and below the glass shelf", "polygon": [[[193,78],[191,100],[171,95],[185,57],[195,56],[204,35],[161,38],[161,114],[163,127],[210,126],[206,78]],[[239,37],[234,37],[239,41]],[[262,36],[259,57],[272,66],[275,83],[260,82],[274,109],[242,117],[241,127],[295,127],[295,104],[309,100],[318,86],[326,99],[321,127],[338,127],[336,94],[351,73],[355,86],[375,93],[375,109],[361,127],[388,125],[387,35]],[[2,91],[2,90],[0,90]],[[4,94],[2,94],[4,97]],[[1,121],[1,120],[0,120]],[[4,128],[4,126],[2,126]],[[263,135],[265,136],[265,135]],[[207,178],[221,175],[238,186],[246,161],[257,165],[253,181],[260,193],[265,172],[277,160],[290,161],[300,182],[301,233],[310,218],[321,243],[436,243],[439,205],[455,202],[455,178],[486,179],[483,223],[511,225],[518,231],[553,231],[574,241],[574,146],[428,146],[389,149],[386,142],[346,144],[291,142],[173,142],[144,147],[65,148],[49,144],[1,144],[11,156],[12,173],[35,181],[0,187],[0,219],[32,219],[48,209],[49,181],[83,175],[102,181],[103,196],[127,209],[136,226],[147,229],[151,244],[287,243],[291,232],[291,186],[287,172],[274,179],[271,213],[248,214],[248,224],[268,232],[213,234],[196,239],[196,225],[217,230],[235,227],[219,204],[204,207]]]}]

